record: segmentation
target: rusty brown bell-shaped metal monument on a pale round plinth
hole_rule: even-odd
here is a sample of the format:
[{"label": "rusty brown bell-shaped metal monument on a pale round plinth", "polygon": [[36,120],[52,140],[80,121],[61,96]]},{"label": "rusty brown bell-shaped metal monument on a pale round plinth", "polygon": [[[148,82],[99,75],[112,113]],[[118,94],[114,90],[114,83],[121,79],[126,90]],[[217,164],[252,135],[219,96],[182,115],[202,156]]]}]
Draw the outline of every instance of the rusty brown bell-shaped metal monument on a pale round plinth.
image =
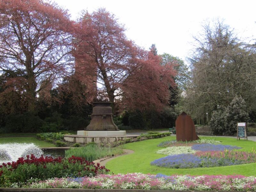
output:
[{"label": "rusty brown bell-shaped metal monument on a pale round plinth", "polygon": [[119,131],[113,121],[111,102],[94,102],[91,123],[84,131]]}]

